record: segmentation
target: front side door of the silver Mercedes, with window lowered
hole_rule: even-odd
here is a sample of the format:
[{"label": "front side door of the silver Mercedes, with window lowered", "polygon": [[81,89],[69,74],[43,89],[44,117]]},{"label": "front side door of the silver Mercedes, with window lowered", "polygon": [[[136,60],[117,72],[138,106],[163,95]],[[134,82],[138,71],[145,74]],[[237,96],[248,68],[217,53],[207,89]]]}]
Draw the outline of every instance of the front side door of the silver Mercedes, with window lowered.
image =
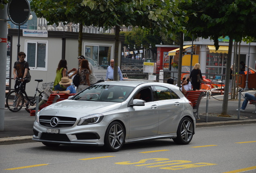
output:
[{"label": "front side door of the silver Mercedes, with window lowered", "polygon": [[[145,87],[138,90],[134,96],[141,92],[141,99],[145,106],[128,107],[129,110],[129,139],[157,135],[159,105],[153,101],[152,87]],[[132,103],[133,99],[130,101]]]}]

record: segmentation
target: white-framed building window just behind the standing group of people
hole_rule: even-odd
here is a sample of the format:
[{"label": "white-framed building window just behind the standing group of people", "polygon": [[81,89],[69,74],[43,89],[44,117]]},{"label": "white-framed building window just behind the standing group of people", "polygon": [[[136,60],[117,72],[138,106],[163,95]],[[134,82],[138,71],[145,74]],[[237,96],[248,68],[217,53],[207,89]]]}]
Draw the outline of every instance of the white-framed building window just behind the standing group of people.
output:
[{"label": "white-framed building window just behind the standing group of people", "polygon": [[110,65],[110,59],[112,54],[112,44],[97,45],[85,43],[85,57],[88,57],[88,61],[99,69],[107,69]]}]

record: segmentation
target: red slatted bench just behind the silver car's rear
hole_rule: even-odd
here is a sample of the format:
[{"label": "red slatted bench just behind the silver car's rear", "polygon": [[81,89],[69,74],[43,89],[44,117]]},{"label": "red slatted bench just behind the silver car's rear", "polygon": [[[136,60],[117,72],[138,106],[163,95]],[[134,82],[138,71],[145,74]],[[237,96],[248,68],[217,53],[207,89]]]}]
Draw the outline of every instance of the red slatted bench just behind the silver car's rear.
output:
[{"label": "red slatted bench just behind the silver car's rear", "polygon": [[188,101],[192,103],[194,116],[198,119],[200,119],[198,115],[198,109],[199,109],[200,101],[204,97],[204,95],[205,95],[204,91],[187,91],[185,95]]}]

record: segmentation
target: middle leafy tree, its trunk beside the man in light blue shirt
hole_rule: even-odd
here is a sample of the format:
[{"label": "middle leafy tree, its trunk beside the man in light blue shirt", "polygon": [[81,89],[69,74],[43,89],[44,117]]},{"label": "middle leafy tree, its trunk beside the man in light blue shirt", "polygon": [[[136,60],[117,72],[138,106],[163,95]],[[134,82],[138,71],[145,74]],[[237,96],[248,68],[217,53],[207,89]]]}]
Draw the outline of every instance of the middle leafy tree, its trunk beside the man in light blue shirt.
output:
[{"label": "middle leafy tree, its trunk beside the man in light blue shirt", "polygon": [[93,21],[95,26],[105,28],[115,27],[116,44],[114,54],[114,80],[117,80],[118,46],[120,26],[138,26],[151,30],[153,33],[163,32],[172,35],[173,30],[183,30],[180,20],[187,20],[185,16],[176,17],[175,14],[186,14],[178,9],[179,1],[169,0],[84,0],[83,5],[91,8],[97,16]]}]

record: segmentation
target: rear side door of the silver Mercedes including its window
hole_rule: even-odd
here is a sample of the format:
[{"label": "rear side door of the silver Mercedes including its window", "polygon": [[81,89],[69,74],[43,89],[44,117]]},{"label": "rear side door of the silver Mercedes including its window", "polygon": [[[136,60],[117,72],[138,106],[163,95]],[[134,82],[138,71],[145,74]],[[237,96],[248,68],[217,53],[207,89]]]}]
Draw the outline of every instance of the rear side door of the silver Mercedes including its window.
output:
[{"label": "rear side door of the silver Mercedes including its window", "polygon": [[158,135],[175,133],[184,109],[184,102],[171,89],[154,86],[159,104]]}]

